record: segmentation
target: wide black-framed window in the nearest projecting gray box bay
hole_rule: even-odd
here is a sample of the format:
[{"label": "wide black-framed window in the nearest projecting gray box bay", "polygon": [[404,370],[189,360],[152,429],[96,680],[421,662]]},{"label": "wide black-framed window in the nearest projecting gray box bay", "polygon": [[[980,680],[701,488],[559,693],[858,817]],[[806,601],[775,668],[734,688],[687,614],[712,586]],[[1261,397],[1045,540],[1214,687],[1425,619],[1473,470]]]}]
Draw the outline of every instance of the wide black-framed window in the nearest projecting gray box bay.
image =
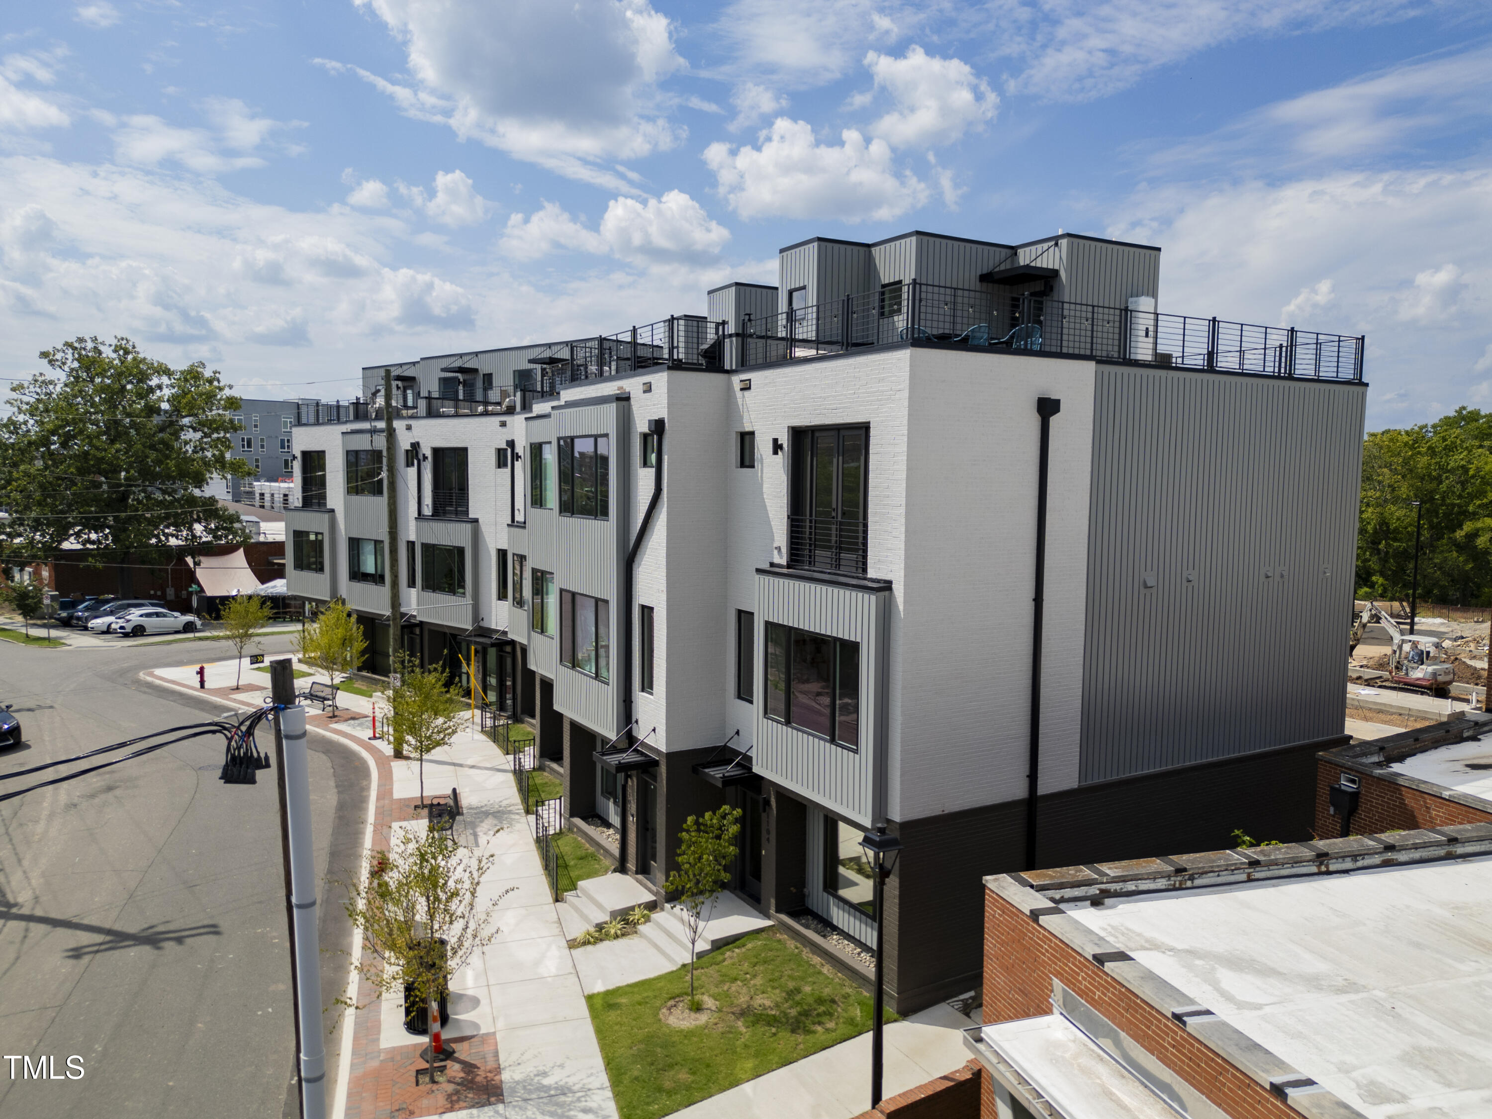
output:
[{"label": "wide black-framed window in the nearest projecting gray box bay", "polygon": [[767,718],[859,749],[859,643],[767,622]]}]

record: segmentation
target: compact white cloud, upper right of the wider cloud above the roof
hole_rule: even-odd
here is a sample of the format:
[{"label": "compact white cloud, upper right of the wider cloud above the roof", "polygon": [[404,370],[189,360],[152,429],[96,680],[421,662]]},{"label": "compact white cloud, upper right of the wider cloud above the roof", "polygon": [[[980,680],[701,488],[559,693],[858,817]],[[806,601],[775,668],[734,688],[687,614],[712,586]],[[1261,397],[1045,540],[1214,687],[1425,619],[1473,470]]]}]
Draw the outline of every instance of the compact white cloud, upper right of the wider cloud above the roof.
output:
[{"label": "compact white cloud, upper right of the wider cloud above the roof", "polygon": [[1000,97],[968,63],[930,55],[921,46],[910,46],[901,58],[871,51],[865,69],[895,106],[870,131],[894,148],[952,143],[970,128],[983,128],[1000,109]]}]

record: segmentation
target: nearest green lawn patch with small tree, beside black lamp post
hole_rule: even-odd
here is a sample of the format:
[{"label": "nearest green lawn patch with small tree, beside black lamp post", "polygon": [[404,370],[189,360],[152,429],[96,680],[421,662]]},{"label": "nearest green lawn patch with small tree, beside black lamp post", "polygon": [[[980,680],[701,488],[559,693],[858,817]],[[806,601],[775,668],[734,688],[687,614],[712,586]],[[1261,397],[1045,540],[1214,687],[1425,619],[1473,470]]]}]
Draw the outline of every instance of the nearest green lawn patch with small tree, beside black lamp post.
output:
[{"label": "nearest green lawn patch with small tree, beside black lamp post", "polygon": [[870,995],[776,930],[694,967],[695,991],[719,1004],[703,1025],[658,1016],[689,994],[686,967],[586,995],[621,1119],[668,1115],[870,1029]]}]

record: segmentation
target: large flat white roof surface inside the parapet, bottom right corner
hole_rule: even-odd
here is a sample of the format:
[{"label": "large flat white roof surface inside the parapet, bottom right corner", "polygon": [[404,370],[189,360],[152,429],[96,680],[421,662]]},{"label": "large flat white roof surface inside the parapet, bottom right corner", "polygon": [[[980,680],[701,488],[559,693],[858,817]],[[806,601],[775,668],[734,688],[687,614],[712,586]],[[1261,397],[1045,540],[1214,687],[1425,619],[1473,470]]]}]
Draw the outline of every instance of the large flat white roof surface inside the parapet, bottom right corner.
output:
[{"label": "large flat white roof surface inside the parapet, bottom right corner", "polygon": [[1064,909],[1373,1119],[1492,1119],[1492,858]]}]

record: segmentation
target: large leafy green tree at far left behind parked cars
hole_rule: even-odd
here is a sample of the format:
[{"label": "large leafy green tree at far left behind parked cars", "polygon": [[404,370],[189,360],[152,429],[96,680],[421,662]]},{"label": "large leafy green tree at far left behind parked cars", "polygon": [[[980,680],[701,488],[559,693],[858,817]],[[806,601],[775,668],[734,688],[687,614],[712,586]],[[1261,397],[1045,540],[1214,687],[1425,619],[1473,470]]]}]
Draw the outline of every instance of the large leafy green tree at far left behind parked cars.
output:
[{"label": "large leafy green tree at far left behind parked cars", "polygon": [[49,373],[12,386],[0,418],[0,552],[54,560],[88,549],[119,564],[130,597],[134,565],[166,567],[179,552],[239,543],[239,516],[198,489],[243,476],[233,458],[242,401],[197,361],[172,369],[116,337],[73,339],[42,351]]}]

